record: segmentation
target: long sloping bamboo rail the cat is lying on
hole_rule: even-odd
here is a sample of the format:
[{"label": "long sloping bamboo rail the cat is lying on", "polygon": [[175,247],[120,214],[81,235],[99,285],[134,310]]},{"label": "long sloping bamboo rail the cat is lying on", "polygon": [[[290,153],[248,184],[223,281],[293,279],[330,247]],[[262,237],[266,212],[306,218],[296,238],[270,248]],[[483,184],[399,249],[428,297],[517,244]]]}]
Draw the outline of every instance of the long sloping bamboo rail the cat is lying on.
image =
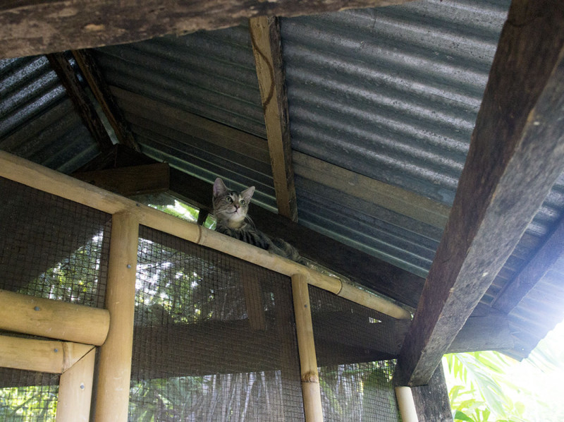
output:
[{"label": "long sloping bamboo rail the cat is lying on", "polygon": [[115,193],[104,191],[97,186],[92,186],[58,171],[16,157],[8,152],[0,152],[0,176],[111,215],[118,212],[130,212],[136,216],[140,224],[145,226],[233,255],[236,258],[255,263],[288,277],[304,275],[309,284],[331,291],[345,299],[360,303],[393,318],[411,318],[411,314],[404,308],[367,290],[357,289],[357,287],[347,284],[341,279],[323,275],[304,265],[286,260],[248,243],[205,229],[197,224],[185,222]]}]

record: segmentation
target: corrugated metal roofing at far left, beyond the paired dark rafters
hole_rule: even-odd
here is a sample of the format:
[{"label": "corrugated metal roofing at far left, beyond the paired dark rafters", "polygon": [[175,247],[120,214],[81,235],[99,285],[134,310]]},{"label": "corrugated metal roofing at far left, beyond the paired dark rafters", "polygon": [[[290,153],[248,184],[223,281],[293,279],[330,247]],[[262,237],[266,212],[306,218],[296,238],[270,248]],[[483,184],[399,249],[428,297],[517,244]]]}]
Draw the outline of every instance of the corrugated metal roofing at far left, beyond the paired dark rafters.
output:
[{"label": "corrugated metal roofing at far left, beyond the paired dark rafters", "polygon": [[0,61],[0,149],[63,173],[99,154],[45,56]]}]

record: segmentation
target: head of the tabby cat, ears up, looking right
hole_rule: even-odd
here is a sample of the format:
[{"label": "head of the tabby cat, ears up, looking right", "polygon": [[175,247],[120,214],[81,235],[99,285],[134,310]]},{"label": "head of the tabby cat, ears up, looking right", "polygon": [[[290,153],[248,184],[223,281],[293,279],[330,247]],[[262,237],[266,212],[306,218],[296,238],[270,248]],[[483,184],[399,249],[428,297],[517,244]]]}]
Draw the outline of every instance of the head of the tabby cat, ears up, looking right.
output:
[{"label": "head of the tabby cat, ears up, looking right", "polygon": [[214,215],[218,224],[240,229],[247,216],[255,186],[239,193],[230,191],[219,177],[214,182]]}]

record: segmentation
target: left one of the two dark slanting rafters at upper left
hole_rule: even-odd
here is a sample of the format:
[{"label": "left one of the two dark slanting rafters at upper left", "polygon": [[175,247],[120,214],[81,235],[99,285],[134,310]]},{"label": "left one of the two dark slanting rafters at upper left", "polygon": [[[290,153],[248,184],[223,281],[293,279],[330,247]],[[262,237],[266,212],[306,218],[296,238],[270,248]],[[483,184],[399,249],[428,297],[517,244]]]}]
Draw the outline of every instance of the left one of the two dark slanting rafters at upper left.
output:
[{"label": "left one of the two dark slanting rafters at upper left", "polygon": [[84,88],[80,85],[80,81],[76,77],[71,64],[61,53],[47,54],[47,59],[49,59],[49,64],[51,64],[51,67],[59,76],[68,97],[71,98],[75,111],[98,143],[100,150],[102,152],[109,150],[114,144],[111,142],[106,128],[104,128],[104,124],[94,108],[94,104],[92,104]]}]

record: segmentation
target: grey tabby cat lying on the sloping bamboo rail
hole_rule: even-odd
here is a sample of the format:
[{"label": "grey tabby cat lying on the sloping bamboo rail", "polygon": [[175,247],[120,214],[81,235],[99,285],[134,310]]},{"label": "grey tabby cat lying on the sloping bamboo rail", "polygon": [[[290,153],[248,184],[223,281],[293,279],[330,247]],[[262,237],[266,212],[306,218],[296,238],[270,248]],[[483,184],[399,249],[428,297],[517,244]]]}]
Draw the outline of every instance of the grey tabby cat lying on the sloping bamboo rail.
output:
[{"label": "grey tabby cat lying on the sloping bamboo rail", "polygon": [[247,212],[253,193],[255,193],[255,186],[239,193],[230,191],[219,177],[216,179],[214,183],[216,231],[276,253],[283,258],[305,263],[290,243],[282,239],[270,239],[252,224]]}]

